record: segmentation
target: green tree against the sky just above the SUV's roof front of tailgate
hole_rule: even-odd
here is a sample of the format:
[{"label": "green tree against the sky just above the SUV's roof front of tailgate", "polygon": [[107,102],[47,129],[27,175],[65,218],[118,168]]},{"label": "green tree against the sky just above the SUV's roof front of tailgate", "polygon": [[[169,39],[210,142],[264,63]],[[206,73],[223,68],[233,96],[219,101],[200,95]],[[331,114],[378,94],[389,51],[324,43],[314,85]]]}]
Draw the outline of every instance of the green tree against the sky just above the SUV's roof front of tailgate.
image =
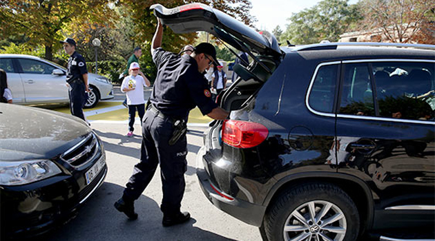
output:
[{"label": "green tree against the sky just above the SUV's roof front of tailgate", "polygon": [[324,39],[338,41],[340,34],[360,18],[357,6],[347,5],[347,0],[323,0],[293,14],[281,40],[293,44],[319,43]]}]

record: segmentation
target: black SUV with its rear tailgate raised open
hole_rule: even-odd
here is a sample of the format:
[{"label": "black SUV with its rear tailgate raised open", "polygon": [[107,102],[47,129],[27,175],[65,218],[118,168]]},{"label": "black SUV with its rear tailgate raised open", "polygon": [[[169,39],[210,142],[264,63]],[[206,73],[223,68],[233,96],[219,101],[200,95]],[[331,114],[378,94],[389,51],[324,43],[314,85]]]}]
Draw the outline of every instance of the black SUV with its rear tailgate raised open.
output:
[{"label": "black SUV with its rear tailgate raised open", "polygon": [[279,48],[201,4],[155,14],[251,56],[220,94],[197,176],[213,205],[265,240],[434,238],[435,46]]}]

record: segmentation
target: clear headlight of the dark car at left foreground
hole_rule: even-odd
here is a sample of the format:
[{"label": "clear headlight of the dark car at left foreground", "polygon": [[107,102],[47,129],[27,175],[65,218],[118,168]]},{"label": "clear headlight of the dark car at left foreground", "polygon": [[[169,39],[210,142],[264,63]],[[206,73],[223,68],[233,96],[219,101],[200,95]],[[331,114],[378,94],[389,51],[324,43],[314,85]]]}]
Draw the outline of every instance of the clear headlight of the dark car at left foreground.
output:
[{"label": "clear headlight of the dark car at left foreground", "polygon": [[24,185],[60,173],[51,160],[1,161],[0,185]]}]

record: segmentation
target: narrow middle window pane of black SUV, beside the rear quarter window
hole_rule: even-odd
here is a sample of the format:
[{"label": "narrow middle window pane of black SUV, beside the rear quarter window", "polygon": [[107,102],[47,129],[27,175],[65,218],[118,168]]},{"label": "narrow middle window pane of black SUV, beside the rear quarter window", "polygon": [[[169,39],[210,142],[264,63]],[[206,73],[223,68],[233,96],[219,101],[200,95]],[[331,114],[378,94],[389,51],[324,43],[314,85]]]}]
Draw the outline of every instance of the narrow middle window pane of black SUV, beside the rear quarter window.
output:
[{"label": "narrow middle window pane of black SUV, beside the rear quarter window", "polygon": [[367,63],[343,65],[340,114],[375,116],[373,88]]}]

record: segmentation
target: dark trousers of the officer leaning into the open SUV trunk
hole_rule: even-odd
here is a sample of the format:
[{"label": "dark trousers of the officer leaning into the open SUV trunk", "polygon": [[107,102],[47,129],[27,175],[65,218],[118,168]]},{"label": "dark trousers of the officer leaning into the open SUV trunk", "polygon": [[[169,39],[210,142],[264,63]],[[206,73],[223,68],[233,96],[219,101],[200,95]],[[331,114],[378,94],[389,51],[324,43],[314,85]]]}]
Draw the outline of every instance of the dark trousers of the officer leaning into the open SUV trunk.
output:
[{"label": "dark trousers of the officer leaning into the open SUV trunk", "polygon": [[186,134],[174,145],[168,145],[173,134],[173,119],[157,116],[158,112],[148,110],[142,120],[142,147],[140,161],[135,165],[133,176],[124,189],[124,198],[136,200],[154,176],[160,163],[163,186],[163,213],[178,213],[184,188],[184,173],[187,161]]}]

